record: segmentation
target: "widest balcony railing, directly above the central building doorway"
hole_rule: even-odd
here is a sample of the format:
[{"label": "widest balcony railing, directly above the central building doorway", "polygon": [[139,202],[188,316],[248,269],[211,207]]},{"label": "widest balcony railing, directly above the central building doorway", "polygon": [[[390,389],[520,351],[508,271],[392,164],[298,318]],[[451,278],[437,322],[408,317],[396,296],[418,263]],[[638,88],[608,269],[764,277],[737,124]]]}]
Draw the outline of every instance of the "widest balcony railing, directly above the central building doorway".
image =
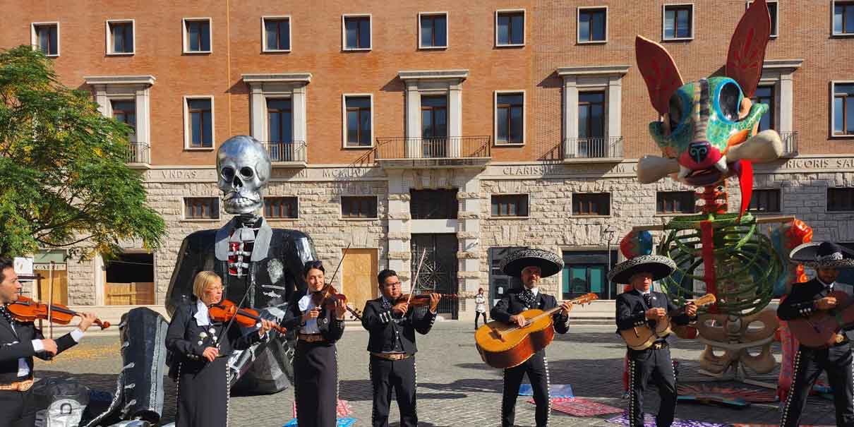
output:
[{"label": "widest balcony railing, directly above the central building doorway", "polygon": [[376,159],[488,159],[491,137],[377,137]]}]

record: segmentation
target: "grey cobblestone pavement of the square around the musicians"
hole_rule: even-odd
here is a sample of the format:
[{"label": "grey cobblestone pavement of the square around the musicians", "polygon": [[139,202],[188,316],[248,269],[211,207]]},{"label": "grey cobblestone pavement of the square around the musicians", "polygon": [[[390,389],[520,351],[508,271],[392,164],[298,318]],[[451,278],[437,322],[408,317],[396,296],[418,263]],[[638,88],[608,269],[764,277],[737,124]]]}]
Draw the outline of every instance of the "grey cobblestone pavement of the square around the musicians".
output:
[{"label": "grey cobblestone pavement of the square around the musicians", "polygon": [[[338,342],[340,398],[349,401],[357,426],[370,425],[371,383],[368,380],[367,333],[358,324],[347,326]],[[427,336],[418,336],[418,416],[424,426],[494,426],[499,425],[501,371],[483,364],[475,349],[473,328],[469,322],[437,322]],[[674,359],[680,360],[680,381],[687,383],[696,374],[703,346],[696,341],[676,341]],[[775,349],[779,353],[779,349]],[[570,333],[557,336],[547,348],[549,371],[553,384],[569,383],[576,396],[614,407],[626,407],[620,398],[623,391],[623,342],[613,333],[613,326],[575,325]],[[115,336],[89,336],[75,348],[51,362],[38,361],[38,377],[69,376],[92,389],[112,392],[121,362]],[[167,407],[164,421],[174,418],[174,387],[166,378]],[[774,381],[775,382],[775,381]],[[731,383],[729,383],[731,384]],[[654,387],[646,395],[646,411],[654,412],[658,397]],[[276,395],[232,396],[230,425],[281,426],[291,418],[292,389]],[[830,401],[810,398],[804,424],[834,424]],[[398,420],[392,404],[391,421]],[[611,426],[600,416],[578,418],[553,412],[553,426]],[[779,423],[777,404],[753,404],[746,409],[681,403],[676,418],[699,419],[719,423]],[[534,424],[534,405],[519,397],[516,422]],[[392,424],[392,425],[395,425]]]}]

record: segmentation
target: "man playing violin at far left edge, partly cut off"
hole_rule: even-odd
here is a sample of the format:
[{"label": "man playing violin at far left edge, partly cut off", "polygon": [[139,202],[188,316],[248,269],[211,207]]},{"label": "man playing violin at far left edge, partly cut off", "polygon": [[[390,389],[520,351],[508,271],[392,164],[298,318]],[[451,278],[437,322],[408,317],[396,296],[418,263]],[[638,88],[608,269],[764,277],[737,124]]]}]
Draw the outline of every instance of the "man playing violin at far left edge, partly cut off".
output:
[{"label": "man playing violin at far left edge, partly cut off", "polygon": [[32,394],[32,356],[48,360],[73,347],[95,322],[92,313],[79,313],[77,329],[51,340],[32,322],[13,319],[7,306],[18,299],[20,282],[12,260],[0,257],[0,427],[31,427],[36,422]]}]

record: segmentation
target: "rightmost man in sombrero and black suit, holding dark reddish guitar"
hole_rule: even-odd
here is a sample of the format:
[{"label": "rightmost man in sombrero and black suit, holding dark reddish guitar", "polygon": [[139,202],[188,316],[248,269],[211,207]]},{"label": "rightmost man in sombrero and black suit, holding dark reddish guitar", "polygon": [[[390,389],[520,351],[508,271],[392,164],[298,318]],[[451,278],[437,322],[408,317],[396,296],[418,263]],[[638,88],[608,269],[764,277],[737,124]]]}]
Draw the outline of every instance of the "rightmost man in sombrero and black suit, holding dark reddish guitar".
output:
[{"label": "rightmost man in sombrero and black suit, holding dark reddish guitar", "polygon": [[[780,303],[777,317],[781,320],[804,319],[816,311],[837,307],[832,295],[839,269],[854,268],[854,254],[837,243],[804,243],[792,250],[789,259],[812,267],[817,277],[803,284],[793,284],[792,293]],[[795,354],[792,388],[780,425],[796,426],[806,408],[806,398],[822,371],[828,371],[828,382],[834,391],[836,425],[854,426],[854,378],[851,376],[851,342],[843,333],[835,336],[829,347],[810,348],[803,343]]]}]

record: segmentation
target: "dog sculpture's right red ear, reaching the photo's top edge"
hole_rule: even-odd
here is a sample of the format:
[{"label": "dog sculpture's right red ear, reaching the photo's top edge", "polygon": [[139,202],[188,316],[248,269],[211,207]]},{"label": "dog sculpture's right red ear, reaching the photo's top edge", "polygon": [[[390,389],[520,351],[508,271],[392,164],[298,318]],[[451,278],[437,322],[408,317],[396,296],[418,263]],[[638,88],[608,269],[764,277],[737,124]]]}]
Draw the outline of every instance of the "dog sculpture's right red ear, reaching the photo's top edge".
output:
[{"label": "dog sculpture's right red ear, reaching the photo's top edge", "polygon": [[765,46],[771,35],[771,15],[765,0],[756,0],[741,17],[729,40],[727,77],[741,86],[745,97],[752,97],[762,77]]}]

